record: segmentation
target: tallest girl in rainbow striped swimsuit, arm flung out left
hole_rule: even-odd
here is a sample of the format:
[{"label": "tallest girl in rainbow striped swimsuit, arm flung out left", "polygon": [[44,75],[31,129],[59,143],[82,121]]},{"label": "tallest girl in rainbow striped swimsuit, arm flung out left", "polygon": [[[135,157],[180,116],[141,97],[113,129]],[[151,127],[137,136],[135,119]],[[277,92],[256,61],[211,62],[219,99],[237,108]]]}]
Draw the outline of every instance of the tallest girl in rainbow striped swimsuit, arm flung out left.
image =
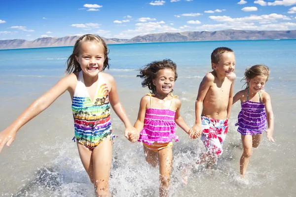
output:
[{"label": "tallest girl in rainbow striped swimsuit, arm flung out left", "polygon": [[72,98],[74,139],[77,141],[81,162],[94,184],[96,196],[99,197],[110,197],[111,107],[125,125],[125,137],[135,142],[138,136],[119,101],[114,78],[102,72],[106,67],[109,68],[108,61],[107,45],[100,36],[81,36],[76,41],[67,62],[68,75],[32,103],[0,133],[0,144],[3,146],[7,143],[9,146],[23,125],[68,91]]}]

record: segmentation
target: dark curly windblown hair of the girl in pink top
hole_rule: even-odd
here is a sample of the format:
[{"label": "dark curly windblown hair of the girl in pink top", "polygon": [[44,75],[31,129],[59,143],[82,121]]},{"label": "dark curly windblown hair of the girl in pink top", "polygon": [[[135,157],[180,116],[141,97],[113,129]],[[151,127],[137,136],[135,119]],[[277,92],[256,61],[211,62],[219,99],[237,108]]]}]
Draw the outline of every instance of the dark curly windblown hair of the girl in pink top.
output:
[{"label": "dark curly windblown hair of the girl in pink top", "polygon": [[147,87],[150,90],[151,94],[156,94],[156,86],[153,84],[153,79],[156,79],[157,73],[161,69],[169,68],[172,69],[175,73],[175,81],[178,78],[177,74],[177,65],[171,60],[162,60],[152,62],[140,70],[140,74],[137,77],[144,79],[142,81],[142,87]]}]

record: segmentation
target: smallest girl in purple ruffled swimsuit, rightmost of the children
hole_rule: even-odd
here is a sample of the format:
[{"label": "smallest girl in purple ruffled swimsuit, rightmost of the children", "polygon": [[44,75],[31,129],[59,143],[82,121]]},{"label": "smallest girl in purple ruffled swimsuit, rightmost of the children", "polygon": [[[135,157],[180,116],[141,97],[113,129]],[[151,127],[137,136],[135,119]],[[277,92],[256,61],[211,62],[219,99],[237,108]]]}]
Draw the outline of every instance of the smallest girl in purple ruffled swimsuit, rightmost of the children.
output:
[{"label": "smallest girl in purple ruffled swimsuit, rightmost of the children", "polygon": [[[266,131],[269,141],[274,129],[274,117],[270,96],[263,90],[269,77],[269,68],[264,65],[255,65],[246,69],[245,77],[247,88],[233,97],[233,103],[241,101],[241,111],[238,114],[237,131],[241,133],[244,147],[240,159],[240,173],[245,176],[247,166],[252,156],[252,148],[257,148],[262,139],[262,132]],[[266,129],[266,122],[268,127]]]}]

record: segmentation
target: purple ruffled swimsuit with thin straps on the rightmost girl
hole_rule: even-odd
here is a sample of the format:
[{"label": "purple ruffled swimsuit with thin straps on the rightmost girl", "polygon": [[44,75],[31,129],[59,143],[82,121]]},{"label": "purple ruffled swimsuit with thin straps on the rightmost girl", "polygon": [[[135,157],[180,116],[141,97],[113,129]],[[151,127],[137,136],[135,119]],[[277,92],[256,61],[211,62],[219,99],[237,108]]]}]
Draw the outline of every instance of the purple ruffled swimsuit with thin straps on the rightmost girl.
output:
[{"label": "purple ruffled swimsuit with thin straps on the rightmost girl", "polygon": [[[260,92],[259,92],[260,98]],[[265,105],[261,102],[254,102],[249,100],[249,89],[247,101],[242,102],[242,109],[238,114],[237,131],[242,135],[256,135],[261,134],[266,128],[266,113]]]}]

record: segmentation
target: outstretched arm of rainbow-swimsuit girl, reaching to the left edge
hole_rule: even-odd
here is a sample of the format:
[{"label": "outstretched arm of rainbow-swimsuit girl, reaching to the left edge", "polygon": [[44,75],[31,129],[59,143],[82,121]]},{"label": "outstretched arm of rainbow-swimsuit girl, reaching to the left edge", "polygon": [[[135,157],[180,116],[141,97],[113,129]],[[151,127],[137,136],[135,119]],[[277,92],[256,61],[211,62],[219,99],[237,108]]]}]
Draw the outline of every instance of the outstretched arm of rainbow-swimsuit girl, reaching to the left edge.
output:
[{"label": "outstretched arm of rainbow-swimsuit girl, reaching to the left edge", "polygon": [[[50,90],[48,90],[41,97],[36,99],[23,113],[15,120],[11,125],[9,125],[5,130],[0,132],[0,152],[6,143],[6,146],[14,141],[17,131],[36,117],[39,113],[44,111],[51,103],[53,103],[58,97],[60,97],[64,92],[70,90],[71,87],[75,86],[75,81],[77,78],[74,74],[70,74],[62,79],[60,79],[56,85],[54,85]],[[73,88],[74,89],[74,88]]]}]

